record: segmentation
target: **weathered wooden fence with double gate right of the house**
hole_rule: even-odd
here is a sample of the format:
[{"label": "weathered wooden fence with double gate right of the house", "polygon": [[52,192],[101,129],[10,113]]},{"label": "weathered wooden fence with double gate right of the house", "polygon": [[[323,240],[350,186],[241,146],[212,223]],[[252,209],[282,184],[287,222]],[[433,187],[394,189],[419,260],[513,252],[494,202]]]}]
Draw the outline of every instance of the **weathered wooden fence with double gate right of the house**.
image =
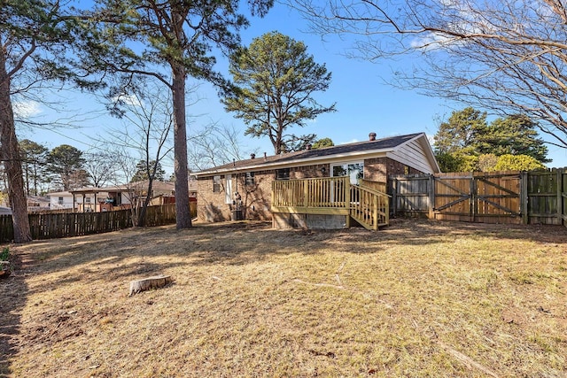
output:
[{"label": "weathered wooden fence with double gate right of the house", "polygon": [[392,212],[436,220],[564,224],[567,170],[392,175]]}]

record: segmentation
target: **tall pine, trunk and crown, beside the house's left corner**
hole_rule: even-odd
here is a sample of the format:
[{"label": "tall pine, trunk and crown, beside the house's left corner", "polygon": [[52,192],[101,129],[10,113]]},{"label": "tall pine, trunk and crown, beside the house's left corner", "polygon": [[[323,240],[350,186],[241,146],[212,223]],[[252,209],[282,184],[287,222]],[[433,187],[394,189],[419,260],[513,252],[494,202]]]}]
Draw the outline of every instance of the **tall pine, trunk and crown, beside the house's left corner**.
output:
[{"label": "tall pine, trunk and crown, beside the house's left corner", "polygon": [[[238,0],[99,0],[89,13],[97,43],[89,42],[89,69],[149,75],[171,90],[174,109],[175,210],[177,228],[190,228],[185,84],[189,77],[223,84],[214,71],[213,48],[229,52],[248,26]],[[273,0],[249,0],[252,14]]]}]

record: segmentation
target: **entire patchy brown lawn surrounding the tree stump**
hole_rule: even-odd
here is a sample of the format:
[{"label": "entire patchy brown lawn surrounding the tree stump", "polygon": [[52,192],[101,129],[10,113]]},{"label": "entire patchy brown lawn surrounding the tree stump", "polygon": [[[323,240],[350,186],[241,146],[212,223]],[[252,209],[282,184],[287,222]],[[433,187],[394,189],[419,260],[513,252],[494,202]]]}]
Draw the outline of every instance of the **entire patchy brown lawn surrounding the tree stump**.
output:
[{"label": "entire patchy brown lawn surrounding the tree stump", "polygon": [[[0,376],[567,374],[567,230],[129,229],[11,247]],[[129,282],[174,283],[128,297]]]}]

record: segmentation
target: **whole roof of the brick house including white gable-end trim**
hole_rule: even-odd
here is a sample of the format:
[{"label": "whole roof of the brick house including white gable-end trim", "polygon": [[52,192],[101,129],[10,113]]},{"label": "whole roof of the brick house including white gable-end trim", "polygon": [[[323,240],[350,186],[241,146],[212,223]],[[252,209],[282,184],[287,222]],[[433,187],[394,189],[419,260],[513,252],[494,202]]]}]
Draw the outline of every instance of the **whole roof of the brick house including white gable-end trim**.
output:
[{"label": "whole roof of the brick house including white gable-end trim", "polygon": [[[249,158],[245,160],[234,161],[233,163],[223,166],[215,166],[205,169],[195,176],[206,176],[210,174],[220,174],[237,172],[250,169],[274,169],[279,166],[301,166],[307,164],[323,163],[336,158],[366,158],[369,155],[381,156],[392,150],[398,149],[405,143],[409,143],[416,139],[423,138],[427,144],[427,150],[431,153],[432,161],[437,166],[433,153],[427,138],[423,133],[397,135],[387,138],[377,139],[375,141],[365,141],[357,143],[340,144],[338,146],[326,147],[317,150],[300,150],[287,152],[280,155],[265,156],[260,158]],[[439,171],[439,166],[437,166]]]}]

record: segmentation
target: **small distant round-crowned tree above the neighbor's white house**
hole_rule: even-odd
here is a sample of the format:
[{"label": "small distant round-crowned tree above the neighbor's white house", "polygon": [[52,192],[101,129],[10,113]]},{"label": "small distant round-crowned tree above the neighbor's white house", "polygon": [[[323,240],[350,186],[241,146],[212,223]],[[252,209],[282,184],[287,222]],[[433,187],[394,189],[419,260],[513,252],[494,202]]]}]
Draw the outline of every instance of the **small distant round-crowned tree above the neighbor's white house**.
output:
[{"label": "small distant round-crowned tree above the neighbor's white house", "polygon": [[50,150],[47,157],[47,170],[63,190],[76,189],[86,185],[88,174],[83,166],[85,159],[82,150],[68,144]]}]

